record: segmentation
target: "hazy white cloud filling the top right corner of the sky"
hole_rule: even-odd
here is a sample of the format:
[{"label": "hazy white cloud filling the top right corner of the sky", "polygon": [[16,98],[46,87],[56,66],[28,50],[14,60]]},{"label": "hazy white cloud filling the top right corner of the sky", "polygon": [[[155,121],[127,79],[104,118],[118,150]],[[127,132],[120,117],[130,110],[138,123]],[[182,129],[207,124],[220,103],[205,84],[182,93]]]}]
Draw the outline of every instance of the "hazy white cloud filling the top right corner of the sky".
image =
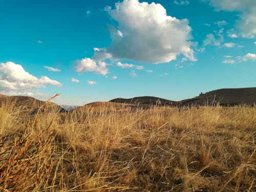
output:
[{"label": "hazy white cloud filling the top right corner of the sky", "polygon": [[234,26],[242,37],[253,38],[256,34],[256,1],[254,0],[206,0],[216,11],[239,11],[240,18]]}]

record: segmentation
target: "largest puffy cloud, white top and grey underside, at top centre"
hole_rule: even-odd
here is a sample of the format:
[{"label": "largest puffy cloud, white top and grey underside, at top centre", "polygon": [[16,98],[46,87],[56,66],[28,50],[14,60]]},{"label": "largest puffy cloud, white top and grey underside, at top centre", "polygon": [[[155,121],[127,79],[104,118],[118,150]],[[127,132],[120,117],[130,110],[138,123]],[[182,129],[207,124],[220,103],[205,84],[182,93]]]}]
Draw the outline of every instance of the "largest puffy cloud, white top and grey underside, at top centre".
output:
[{"label": "largest puffy cloud, white top and grey underside, at top centre", "polygon": [[110,29],[112,44],[106,48],[114,58],[161,63],[183,54],[196,61],[187,19],[168,16],[164,7],[155,3],[131,0],[115,6],[105,8],[118,24]]}]

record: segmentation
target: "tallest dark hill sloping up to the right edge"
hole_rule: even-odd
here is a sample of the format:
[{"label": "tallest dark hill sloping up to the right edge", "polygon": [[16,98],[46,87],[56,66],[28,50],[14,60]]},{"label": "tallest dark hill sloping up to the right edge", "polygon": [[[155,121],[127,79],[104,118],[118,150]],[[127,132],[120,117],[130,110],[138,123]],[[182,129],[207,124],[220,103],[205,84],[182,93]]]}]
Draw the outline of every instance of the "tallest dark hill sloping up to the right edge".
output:
[{"label": "tallest dark hill sloping up to the right edge", "polygon": [[238,104],[256,104],[256,88],[237,88],[237,89],[218,89],[191,99],[180,101],[182,105],[190,104],[212,104],[220,105],[238,105]]}]

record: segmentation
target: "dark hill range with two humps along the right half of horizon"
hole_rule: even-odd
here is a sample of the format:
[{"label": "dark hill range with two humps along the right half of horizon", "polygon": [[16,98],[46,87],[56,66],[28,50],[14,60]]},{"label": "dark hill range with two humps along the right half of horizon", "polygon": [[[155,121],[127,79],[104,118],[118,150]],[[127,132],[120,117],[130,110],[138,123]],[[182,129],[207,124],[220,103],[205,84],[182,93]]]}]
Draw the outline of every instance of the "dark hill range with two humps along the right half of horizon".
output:
[{"label": "dark hill range with two humps along the right half of horizon", "polygon": [[171,101],[158,97],[134,97],[130,99],[116,98],[110,100],[118,103],[131,103],[139,105],[205,105],[219,103],[223,106],[256,103],[256,88],[219,89],[182,101]]}]

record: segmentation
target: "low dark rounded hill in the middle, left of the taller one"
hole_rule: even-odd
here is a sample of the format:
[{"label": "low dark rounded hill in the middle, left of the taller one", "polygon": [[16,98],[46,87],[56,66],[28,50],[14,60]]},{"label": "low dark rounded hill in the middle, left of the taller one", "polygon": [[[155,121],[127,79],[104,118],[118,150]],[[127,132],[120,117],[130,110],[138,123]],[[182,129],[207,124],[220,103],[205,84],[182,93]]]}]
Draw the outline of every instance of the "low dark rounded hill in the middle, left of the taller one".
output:
[{"label": "low dark rounded hill in the middle, left of the taller one", "polygon": [[129,104],[152,104],[152,105],[176,105],[178,103],[177,101],[171,101],[171,100],[162,99],[159,97],[150,97],[150,96],[134,97],[130,99],[116,98],[116,99],[110,100],[110,102],[129,103]]}]

